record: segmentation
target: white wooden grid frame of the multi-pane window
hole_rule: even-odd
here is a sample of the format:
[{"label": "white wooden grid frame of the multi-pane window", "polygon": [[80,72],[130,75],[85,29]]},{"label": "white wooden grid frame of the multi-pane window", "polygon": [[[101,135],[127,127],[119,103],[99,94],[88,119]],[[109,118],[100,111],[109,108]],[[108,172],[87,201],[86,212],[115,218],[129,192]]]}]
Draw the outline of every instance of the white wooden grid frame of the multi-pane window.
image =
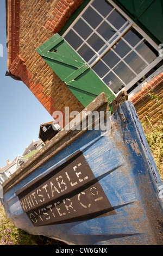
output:
[{"label": "white wooden grid frame of the multi-pane window", "polygon": [[[122,9],[121,8],[119,8],[112,0],[107,0],[108,1],[108,3],[110,3],[114,8],[111,10],[111,12],[109,13],[109,15],[112,13],[112,11],[114,11],[115,9],[127,20],[127,22],[129,22],[129,24],[128,24],[128,26],[124,29],[124,31],[122,31],[117,37],[116,37],[116,39],[115,40],[113,40],[112,42],[111,42],[111,44],[109,44],[109,42],[108,41],[106,41],[106,40],[104,40],[104,38],[100,35],[100,34],[98,34],[98,32],[97,32],[97,34],[98,34],[98,36],[100,37],[100,38],[102,38],[102,40],[103,41],[105,41],[105,44],[108,46],[108,47],[106,47],[105,48],[105,50],[102,52],[102,54],[100,55],[100,54],[98,54],[89,44],[87,44],[87,42],[82,38],[82,36],[80,36],[74,29],[73,29],[73,26],[74,26],[74,24],[76,24],[76,22],[80,19],[80,18],[82,18],[82,15],[84,14],[84,12],[85,12],[85,10],[91,5],[91,3],[93,2],[93,0],[91,0],[87,5],[86,5],[86,7],[83,9],[83,11],[78,15],[78,17],[71,23],[71,25],[70,25],[70,27],[68,27],[68,29],[65,31],[65,33],[62,35],[62,37],[64,38],[64,36],[68,33],[68,31],[70,31],[70,29],[72,29],[73,30],[73,32],[75,32],[78,36],[79,36],[79,38],[81,38],[84,42],[83,42],[83,44],[82,45],[84,45],[84,44],[86,44],[86,45],[88,45],[89,46],[89,48],[91,48],[91,50],[93,51],[93,52],[95,52],[95,54],[98,56],[92,63],[91,63],[91,61],[92,61],[92,59],[93,58],[95,58],[95,55],[89,60],[89,62],[86,62],[85,60],[85,62],[90,66],[90,68],[92,68],[92,66],[93,65],[95,65],[97,62],[98,62],[98,60],[99,59],[101,59],[102,60],[102,57],[104,56],[104,54],[106,53],[106,52],[108,52],[113,46],[114,46],[114,44],[118,41],[118,40],[120,40],[121,38],[122,38],[122,36],[127,32],[127,31],[129,31],[129,29],[131,28],[131,27],[133,27],[138,33],[140,33],[142,36],[143,36],[143,38],[141,39],[141,41],[143,41],[143,40],[147,40],[148,42],[149,42],[149,44],[151,44],[152,46],[153,46],[153,48],[155,48],[155,50],[156,51],[158,51],[159,52],[159,50],[160,50],[160,48],[159,48],[159,46],[145,33],[145,32],[143,32],[142,31],[142,29],[139,27],[139,26],[137,26],[136,25],[136,23],[134,23],[134,21],[133,20],[131,20],[130,19],[130,17],[128,17],[128,15],[126,14],[126,13],[124,13],[124,11],[122,11]],[[92,6],[91,6],[92,7]],[[92,7],[93,9],[95,9],[94,7]],[[98,13],[98,11],[96,10],[96,12]],[[99,13],[98,13],[99,14]],[[99,14],[99,15],[101,15],[101,14]],[[106,19],[106,18],[105,18]],[[103,19],[103,20],[105,20],[105,19]],[[102,21],[103,22],[103,21]],[[109,21],[107,21],[108,23],[109,23]],[[122,26],[122,27],[124,27],[126,24],[127,24],[127,22],[126,23],[124,23],[124,25]],[[86,24],[87,25],[89,25],[89,23],[87,23],[86,22]],[[101,26],[101,23],[99,24],[99,26]],[[98,27],[99,27],[98,26]],[[113,26],[113,25],[111,25],[111,26]],[[91,27],[90,25],[89,25],[89,27]],[[98,28],[97,27],[97,28]],[[97,29],[96,28],[96,29]],[[117,29],[115,29],[115,31],[116,31]],[[95,30],[93,30],[93,32],[94,32]],[[89,37],[93,34],[93,32],[89,35]],[[116,33],[115,33],[116,34]],[[115,35],[114,35],[115,36]],[[89,38],[88,37],[88,38]],[[88,39],[88,38],[86,38],[86,40]],[[123,39],[123,41],[125,41],[126,42],[126,44],[128,44],[128,42],[126,41],[126,40],[124,40]],[[140,44],[141,43],[141,41],[139,41],[139,43],[138,44]],[[68,43],[68,42],[67,42]],[[70,45],[70,44],[69,44]],[[78,51],[81,47],[82,47],[82,45],[80,45],[79,47],[78,47],[78,49],[76,50],[76,51]],[[70,45],[71,46],[71,45]],[[130,45],[129,45],[130,46]],[[136,45],[137,46],[137,45]],[[134,47],[132,47],[131,48],[131,51],[130,52],[128,52],[127,53],[127,55],[129,54],[129,53],[131,53],[131,52],[133,52],[133,49],[134,48],[136,48],[136,46],[134,46]],[[72,46],[71,46],[72,47]],[[105,47],[105,45],[103,46],[103,47]],[[131,46],[130,46],[131,47]],[[102,50],[102,49],[101,49]],[[101,50],[99,50],[99,51],[101,51]],[[140,57],[140,54],[138,53],[138,52],[136,52],[137,53],[137,55]],[[78,53],[79,54],[79,53]],[[116,54],[117,55],[117,54]],[[127,55],[124,57],[124,58],[126,58],[127,57]],[[82,56],[80,56],[81,58],[82,58]],[[119,57],[120,58],[120,62],[122,62],[122,60],[123,60],[123,58],[122,57]],[[83,58],[82,58],[83,59]],[[147,63],[147,61],[145,60],[145,59],[143,59],[143,57],[141,56],[141,59],[147,64],[147,66],[146,66],[146,68],[145,69],[143,69],[138,75],[136,74],[136,72],[133,70],[133,69],[131,69],[131,67],[129,67],[128,66],[128,64],[127,63],[125,63],[127,66],[128,66],[128,68],[136,75],[135,76],[135,78],[133,79],[133,80],[131,80],[131,82],[129,82],[128,84],[125,84],[122,80],[121,80],[121,78],[120,77],[118,77],[115,73],[115,75],[116,75],[116,77],[122,82],[122,84],[124,84],[124,88],[123,89],[125,89],[125,90],[128,90],[128,89],[130,89],[137,81],[139,81],[145,74],[147,74],[147,72],[149,72],[152,68],[154,68],[154,66],[156,65],[156,64],[158,64],[160,61],[161,61],[161,59],[163,59],[163,57],[157,57],[151,64],[149,64],[149,63]],[[123,63],[124,63],[124,61],[123,61]],[[117,65],[118,63],[116,63],[116,65]],[[106,63],[105,63],[105,65],[106,65]],[[106,65],[107,66],[107,65]],[[112,68],[112,69],[114,69],[114,67]],[[111,70],[112,70],[111,69]],[[163,70],[163,66],[162,66],[162,70]],[[110,72],[110,68],[108,67],[108,73]],[[108,74],[107,73],[107,74]],[[105,76],[107,75],[107,74],[105,74]],[[97,76],[98,76],[98,74],[96,74]],[[99,76],[98,76],[99,77]],[[103,81],[103,79],[101,78],[101,77],[99,77],[102,81]],[[104,78],[104,77],[103,77]],[[103,83],[105,83],[104,81],[103,81]],[[107,84],[106,84],[106,86],[107,87],[109,87]],[[141,86],[141,84],[139,85],[139,86],[137,86],[136,88],[139,88]],[[112,89],[109,87],[109,89],[111,90],[111,92],[114,94],[114,95],[118,95],[120,92],[118,92],[117,94],[115,94],[113,91],[112,91]],[[122,90],[123,90],[122,89]],[[132,92],[131,92],[132,93]]]}]

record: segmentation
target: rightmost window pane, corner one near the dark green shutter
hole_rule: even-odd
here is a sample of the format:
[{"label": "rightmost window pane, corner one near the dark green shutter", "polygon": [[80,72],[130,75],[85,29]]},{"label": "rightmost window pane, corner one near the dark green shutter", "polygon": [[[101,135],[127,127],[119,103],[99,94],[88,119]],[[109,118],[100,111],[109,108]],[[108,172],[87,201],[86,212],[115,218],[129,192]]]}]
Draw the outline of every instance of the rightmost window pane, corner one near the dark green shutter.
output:
[{"label": "rightmost window pane, corner one near the dark green shutter", "polygon": [[141,44],[136,47],[136,51],[139,52],[148,63],[153,62],[153,60],[158,57],[158,52],[156,52],[146,40],[141,42]]}]

